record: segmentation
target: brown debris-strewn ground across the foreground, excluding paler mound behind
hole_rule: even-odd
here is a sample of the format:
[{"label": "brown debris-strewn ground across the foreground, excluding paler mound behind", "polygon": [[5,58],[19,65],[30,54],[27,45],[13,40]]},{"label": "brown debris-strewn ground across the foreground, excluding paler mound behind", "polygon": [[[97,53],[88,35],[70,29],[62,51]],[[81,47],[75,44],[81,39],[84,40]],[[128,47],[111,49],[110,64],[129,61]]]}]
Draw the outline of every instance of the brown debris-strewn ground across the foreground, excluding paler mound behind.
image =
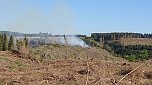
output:
[{"label": "brown debris-strewn ground across the foreground, excluding paler mound behind", "polygon": [[152,62],[88,58],[37,63],[1,51],[0,85],[152,85]]}]

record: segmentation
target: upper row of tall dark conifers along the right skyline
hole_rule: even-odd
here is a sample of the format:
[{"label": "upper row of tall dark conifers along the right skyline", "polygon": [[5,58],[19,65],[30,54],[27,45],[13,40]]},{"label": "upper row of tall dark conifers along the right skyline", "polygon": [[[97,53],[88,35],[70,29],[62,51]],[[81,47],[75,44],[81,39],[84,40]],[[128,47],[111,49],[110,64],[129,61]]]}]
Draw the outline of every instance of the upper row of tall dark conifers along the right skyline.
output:
[{"label": "upper row of tall dark conifers along the right skyline", "polygon": [[152,34],[142,33],[92,33],[91,37],[97,41],[119,40],[120,38],[152,38]]}]

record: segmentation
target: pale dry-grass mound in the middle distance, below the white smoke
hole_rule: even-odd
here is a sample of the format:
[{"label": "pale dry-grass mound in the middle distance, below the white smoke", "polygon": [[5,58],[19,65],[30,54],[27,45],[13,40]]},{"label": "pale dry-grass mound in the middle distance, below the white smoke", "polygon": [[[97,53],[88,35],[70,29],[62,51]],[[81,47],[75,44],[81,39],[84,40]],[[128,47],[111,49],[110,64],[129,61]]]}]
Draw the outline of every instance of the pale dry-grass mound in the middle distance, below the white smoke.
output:
[{"label": "pale dry-grass mound in the middle distance, below the white smoke", "polygon": [[31,53],[40,59],[42,62],[50,60],[86,60],[86,54],[92,60],[122,60],[112,56],[109,52],[103,49],[82,48],[63,45],[44,45],[31,49]]}]

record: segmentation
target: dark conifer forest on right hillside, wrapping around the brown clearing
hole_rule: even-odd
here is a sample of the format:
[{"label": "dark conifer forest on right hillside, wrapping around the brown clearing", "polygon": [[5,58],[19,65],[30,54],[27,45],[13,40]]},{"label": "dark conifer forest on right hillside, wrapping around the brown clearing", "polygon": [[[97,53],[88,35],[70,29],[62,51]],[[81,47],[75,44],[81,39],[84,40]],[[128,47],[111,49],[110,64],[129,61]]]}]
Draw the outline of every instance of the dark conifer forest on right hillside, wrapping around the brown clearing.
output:
[{"label": "dark conifer forest on right hillside, wrapping around the brown clearing", "polygon": [[[115,56],[123,57],[131,62],[152,58],[152,45],[123,45],[120,39],[145,38],[152,39],[152,34],[141,33],[92,33],[91,37],[103,42],[103,48]],[[146,41],[145,41],[146,42]]]}]

